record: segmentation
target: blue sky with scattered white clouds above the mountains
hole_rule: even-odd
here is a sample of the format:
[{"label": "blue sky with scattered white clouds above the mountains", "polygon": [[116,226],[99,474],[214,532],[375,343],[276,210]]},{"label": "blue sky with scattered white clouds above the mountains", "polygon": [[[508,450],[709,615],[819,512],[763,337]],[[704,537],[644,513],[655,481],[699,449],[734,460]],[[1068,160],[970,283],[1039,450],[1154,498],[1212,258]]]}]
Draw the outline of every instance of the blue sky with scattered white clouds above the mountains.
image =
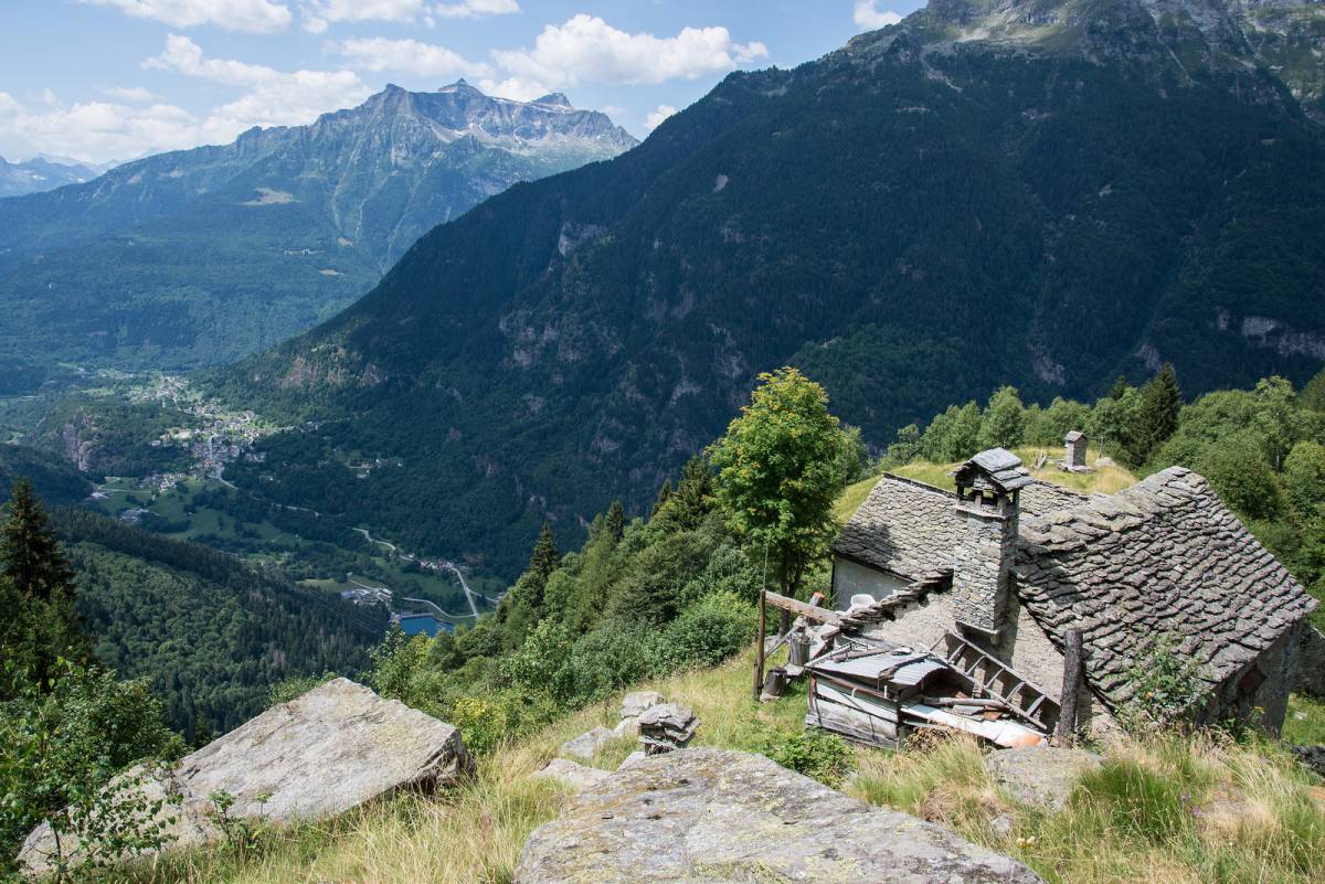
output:
[{"label": "blue sky with scattered white clouds above the mountains", "polygon": [[564,93],[637,138],[737,69],[922,0],[0,0],[0,156],[86,163],[311,123],[387,83]]}]

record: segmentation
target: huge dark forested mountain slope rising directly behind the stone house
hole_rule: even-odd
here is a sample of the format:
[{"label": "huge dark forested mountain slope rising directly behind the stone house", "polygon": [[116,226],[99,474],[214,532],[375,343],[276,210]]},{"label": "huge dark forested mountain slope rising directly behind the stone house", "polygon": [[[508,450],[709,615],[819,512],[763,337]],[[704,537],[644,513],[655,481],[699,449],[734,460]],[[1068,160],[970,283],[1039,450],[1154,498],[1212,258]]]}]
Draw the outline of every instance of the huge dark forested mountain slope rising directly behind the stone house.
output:
[{"label": "huge dark forested mountain slope rising directly behind the stone house", "polygon": [[[1325,359],[1325,142],[1295,95],[1321,62],[1276,73],[1249,15],[942,0],[731,74],[221,376],[318,421],[233,478],[510,572],[545,516],[643,506],[788,360],[873,442],[1003,382],[1084,396],[1162,360],[1189,394],[1302,381]],[[355,482],[346,451],[401,468]]]}]

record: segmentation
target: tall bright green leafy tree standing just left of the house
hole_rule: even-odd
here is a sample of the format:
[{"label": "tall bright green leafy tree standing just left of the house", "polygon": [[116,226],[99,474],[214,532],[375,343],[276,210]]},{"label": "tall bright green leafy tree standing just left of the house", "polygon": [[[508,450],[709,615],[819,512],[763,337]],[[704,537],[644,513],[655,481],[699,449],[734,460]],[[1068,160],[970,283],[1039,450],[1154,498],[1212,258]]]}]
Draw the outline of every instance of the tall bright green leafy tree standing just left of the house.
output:
[{"label": "tall bright green leafy tree standing just left of the house", "polygon": [[767,545],[783,593],[795,593],[837,525],[832,504],[849,476],[851,439],[824,389],[795,368],[759,376],[750,405],[710,449],[731,529]]}]

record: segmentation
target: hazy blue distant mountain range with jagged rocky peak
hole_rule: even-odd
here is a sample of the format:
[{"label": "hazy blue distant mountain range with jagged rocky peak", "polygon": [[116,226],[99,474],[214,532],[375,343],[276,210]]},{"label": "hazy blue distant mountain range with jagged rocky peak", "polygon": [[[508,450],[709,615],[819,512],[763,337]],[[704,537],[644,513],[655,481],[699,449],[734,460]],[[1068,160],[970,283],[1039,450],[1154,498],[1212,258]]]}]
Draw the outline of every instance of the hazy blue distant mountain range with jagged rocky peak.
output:
[{"label": "hazy blue distant mountain range with jagged rocky peak", "polygon": [[0,376],[23,388],[60,361],[187,369],[270,347],[335,315],[436,224],[635,143],[560,94],[387,86],[309,126],[0,200]]}]

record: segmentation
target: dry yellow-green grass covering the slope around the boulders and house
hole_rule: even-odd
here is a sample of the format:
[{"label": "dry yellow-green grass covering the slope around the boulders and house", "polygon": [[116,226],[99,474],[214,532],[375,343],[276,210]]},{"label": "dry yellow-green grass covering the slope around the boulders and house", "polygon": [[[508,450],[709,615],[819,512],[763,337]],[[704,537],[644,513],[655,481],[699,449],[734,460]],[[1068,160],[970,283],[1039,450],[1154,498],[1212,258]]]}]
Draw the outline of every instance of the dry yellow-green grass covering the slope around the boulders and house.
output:
[{"label": "dry yellow-green grass covering the slope around the boulders and house", "polygon": [[[1034,463],[1034,453],[1020,453]],[[946,484],[949,466],[912,464],[901,472]],[[1045,472],[1083,491],[1113,491],[1133,479],[1122,470],[1090,476]],[[837,506],[849,517],[874,479],[848,488]],[[758,752],[800,732],[804,691],[775,704],[750,699],[753,651],[712,670],[641,685],[689,705],[702,720],[696,741]],[[242,855],[217,848],[174,855],[144,867],[138,884],[288,881],[510,881],[529,832],[553,819],[568,794],[533,778],[558,746],[595,724],[611,725],[616,703],[567,716],[530,740],[481,760],[468,786],[436,798],[403,795],[321,824],[266,832]],[[1291,738],[1325,738],[1325,707],[1300,701]],[[596,765],[615,768],[633,748],[610,744]],[[1325,789],[1268,744],[1159,737],[1114,746],[1114,760],[1079,783],[1061,814],[1015,802],[990,781],[973,742],[941,740],[892,754],[856,750],[845,790],[951,826],[1010,854],[1051,883],[1200,884],[1321,880],[1325,875]],[[1012,820],[996,835],[990,820]]]}]

